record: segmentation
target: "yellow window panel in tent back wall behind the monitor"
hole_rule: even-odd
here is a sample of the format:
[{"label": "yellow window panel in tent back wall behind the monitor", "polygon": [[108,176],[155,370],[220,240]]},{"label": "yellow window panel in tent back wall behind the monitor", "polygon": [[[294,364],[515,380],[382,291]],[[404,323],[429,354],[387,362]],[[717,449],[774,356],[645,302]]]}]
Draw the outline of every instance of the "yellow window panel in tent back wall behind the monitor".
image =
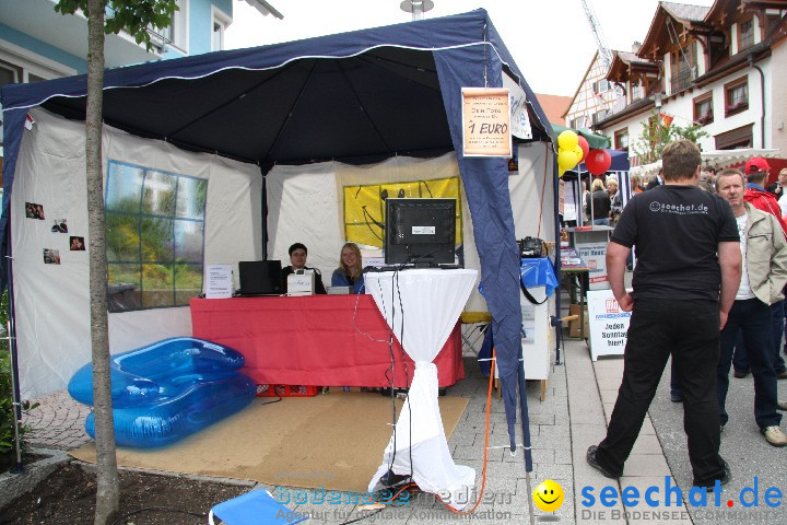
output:
[{"label": "yellow window panel in tent back wall behind the monitor", "polygon": [[385,200],[388,198],[453,198],[457,200],[456,244],[462,243],[459,177],[407,183],[344,186],[344,235],[348,241],[383,247]]}]

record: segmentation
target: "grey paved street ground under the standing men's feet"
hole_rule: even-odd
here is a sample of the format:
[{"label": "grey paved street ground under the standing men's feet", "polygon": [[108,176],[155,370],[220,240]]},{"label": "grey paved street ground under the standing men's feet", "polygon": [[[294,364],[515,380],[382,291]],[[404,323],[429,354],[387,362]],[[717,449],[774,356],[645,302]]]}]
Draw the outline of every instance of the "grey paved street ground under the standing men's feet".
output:
[{"label": "grey paved street ground under the standing men's feet", "polygon": [[[562,362],[553,364],[547,388],[547,397],[539,400],[540,385],[528,383],[530,432],[532,439],[533,471],[525,471],[521,450],[512,456],[508,448],[507,424],[502,399],[495,393],[491,406],[489,436],[489,463],[486,485],[482,503],[475,511],[473,523],[535,523],[536,521],[560,521],[562,523],[588,524],[691,524],[719,523],[785,523],[785,505],[771,509],[764,501],[768,487],[785,487],[784,454],[780,448],[768,446],[753,424],[752,381],[731,380],[730,423],[723,434],[723,455],[732,467],[733,481],[725,487],[720,506],[686,505],[691,485],[691,469],[686,454],[685,435],[682,431],[682,405],[669,401],[669,373],[651,405],[632,456],[626,462],[624,476],[620,480],[604,478],[585,460],[589,445],[597,444],[606,434],[609,415],[620,386],[623,371],[621,357],[590,360],[585,341],[566,340],[561,352]],[[454,460],[477,470],[477,487],[481,485],[482,458],[484,451],[484,418],[488,380],[482,376],[473,358],[465,360],[467,378],[448,389],[448,395],[470,398],[468,408],[449,440]],[[668,369],[669,370],[669,366]],[[783,394],[787,382],[779,385]],[[89,413],[85,407],[72,401],[68,394],[58,393],[39,399],[42,406],[26,419],[36,429],[31,438],[33,446],[43,448],[72,450],[90,439],[82,425]],[[521,436],[517,438],[521,443]],[[381,454],[383,451],[380,451]],[[759,506],[744,509],[740,505],[739,492],[747,486],[753,487],[759,476]],[[682,489],[682,499],[671,505],[663,503],[666,479]],[[533,506],[532,491],[544,480],[556,481],[565,492],[562,506],[548,513]],[[647,487],[657,487],[651,494],[659,506],[651,508],[644,501]],[[621,488],[638,490],[636,505],[621,503]],[[607,488],[607,489],[604,489]],[[286,489],[268,487],[271,491]],[[587,505],[583,489],[591,490],[595,504]],[[614,491],[614,503],[604,506],[600,493]],[[274,492],[275,493],[275,492]],[[632,497],[633,489],[626,489]],[[710,494],[713,497],[713,493]],[[472,498],[471,498],[472,499]],[[726,501],[733,501],[727,508]],[[633,498],[632,498],[633,500]],[[751,494],[748,500],[751,501]],[[779,500],[780,501],[780,500]],[[631,503],[631,502],[630,502]],[[327,512],[325,505],[302,504],[297,512],[308,512],[309,523],[334,524],[363,513],[352,504],[332,505]],[[531,515],[532,513],[532,515]],[[458,516],[445,510],[431,494],[421,494],[407,508],[392,508],[369,517],[386,524],[444,524],[459,521]]]}]

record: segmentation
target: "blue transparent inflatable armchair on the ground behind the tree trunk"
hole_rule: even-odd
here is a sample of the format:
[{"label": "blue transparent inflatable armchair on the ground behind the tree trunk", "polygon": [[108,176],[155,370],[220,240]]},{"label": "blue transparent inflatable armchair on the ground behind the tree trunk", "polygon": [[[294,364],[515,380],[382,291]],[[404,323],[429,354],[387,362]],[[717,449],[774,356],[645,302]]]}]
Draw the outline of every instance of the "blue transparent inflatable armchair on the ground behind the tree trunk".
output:
[{"label": "blue transparent inflatable armchair on the ground behind the tree trunk", "polygon": [[[236,350],[191,337],[113,355],[116,443],[164,446],[238,412],[256,395],[254,381],[238,372],[243,365]],[[77,371],[68,390],[78,401],[93,405],[92,364]],[[95,438],[93,413],[85,430]]]}]

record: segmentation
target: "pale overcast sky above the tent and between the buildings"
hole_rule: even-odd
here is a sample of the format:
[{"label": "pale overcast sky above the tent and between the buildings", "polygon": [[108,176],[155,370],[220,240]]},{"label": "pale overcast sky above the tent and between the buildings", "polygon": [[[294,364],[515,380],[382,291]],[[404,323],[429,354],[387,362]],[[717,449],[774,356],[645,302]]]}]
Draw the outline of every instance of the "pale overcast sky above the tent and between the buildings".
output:
[{"label": "pale overcast sky above the tent and between the buildings", "polygon": [[[412,20],[401,0],[268,0],[284,20],[233,2],[228,49],[297,40]],[[596,40],[580,0],[433,0],[424,18],[484,8],[514,60],[537,93],[572,96],[590,65]],[[713,0],[673,0],[710,5]],[[657,0],[589,0],[611,49],[630,51],[647,35]]]}]

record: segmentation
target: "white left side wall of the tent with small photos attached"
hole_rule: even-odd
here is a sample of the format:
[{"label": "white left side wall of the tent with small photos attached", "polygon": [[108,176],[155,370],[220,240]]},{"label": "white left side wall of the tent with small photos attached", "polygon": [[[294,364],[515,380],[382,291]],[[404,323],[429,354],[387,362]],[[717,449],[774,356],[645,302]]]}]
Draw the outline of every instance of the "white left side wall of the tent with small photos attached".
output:
[{"label": "white left side wall of the tent with small photos attached", "polygon": [[[70,252],[69,236],[87,240],[84,124],[36,108],[25,131],[11,198],[16,343],[24,398],[66,387],[91,359],[87,252]],[[104,127],[107,159],[209,179],[204,264],[261,258],[262,177],[256,165],[185,152]],[[25,218],[25,202],[44,206],[46,220]],[[52,233],[67,219],[68,234]],[[43,249],[60,252],[45,265]],[[109,314],[111,353],[191,335],[188,307]]]}]

